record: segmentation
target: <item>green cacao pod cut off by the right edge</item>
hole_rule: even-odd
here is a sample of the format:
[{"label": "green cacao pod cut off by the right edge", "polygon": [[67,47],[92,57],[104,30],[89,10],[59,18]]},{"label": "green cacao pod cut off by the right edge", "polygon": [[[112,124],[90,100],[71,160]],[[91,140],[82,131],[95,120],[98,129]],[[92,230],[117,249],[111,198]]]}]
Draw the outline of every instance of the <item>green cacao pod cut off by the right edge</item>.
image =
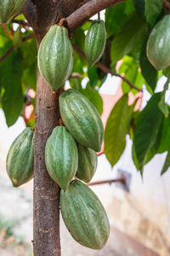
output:
[{"label": "green cacao pod cut off by the right edge", "polygon": [[170,15],[154,26],[147,43],[147,56],[157,70],[170,66]]}]

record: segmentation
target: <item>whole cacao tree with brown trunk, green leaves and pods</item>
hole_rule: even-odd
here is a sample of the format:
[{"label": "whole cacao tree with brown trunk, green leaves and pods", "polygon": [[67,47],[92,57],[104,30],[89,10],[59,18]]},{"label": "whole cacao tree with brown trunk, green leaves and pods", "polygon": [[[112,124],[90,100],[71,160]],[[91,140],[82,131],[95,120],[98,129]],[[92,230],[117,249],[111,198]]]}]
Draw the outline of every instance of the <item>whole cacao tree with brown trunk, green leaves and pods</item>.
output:
[{"label": "whole cacao tree with brown trunk, green leaves and pods", "polygon": [[[105,10],[105,23],[100,20],[102,10]],[[71,235],[94,249],[103,247],[109,236],[105,210],[96,195],[82,182],[71,182],[74,176],[89,182],[96,170],[95,151],[100,150],[104,135],[99,118],[103,112],[99,89],[109,73],[122,79],[123,92],[105,127],[104,153],[111,166],[120,159],[128,134],[133,140],[133,162],[141,174],[145,164],[164,152],[167,158],[160,172],[167,172],[170,165],[170,115],[166,98],[170,79],[169,12],[169,0],[0,0],[0,107],[8,126],[14,125],[21,115],[28,127],[9,149],[7,171],[14,186],[26,183],[34,175],[35,256],[60,255],[59,186],[61,212]],[[98,19],[93,22],[90,19],[94,15]],[[163,90],[156,92],[162,76],[167,81]],[[69,91],[64,92],[66,79],[78,103],[68,98]],[[88,81],[85,87],[84,81]],[[135,96],[144,88],[150,93],[150,100],[143,110],[135,112],[135,102],[131,106],[127,104],[128,93]],[[36,101],[28,95],[30,89],[36,91]],[[26,119],[25,108],[29,104],[35,108],[35,119]],[[75,108],[77,113],[86,110],[85,123],[77,121]],[[63,123],[66,128],[60,127]],[[62,151],[59,145],[65,141],[70,144]],[[57,154],[59,162],[52,166],[56,157],[53,153],[59,152],[57,148],[62,152]],[[74,157],[69,158],[73,153]],[[82,162],[78,162],[77,154]],[[65,181],[64,174],[59,177],[57,169],[63,155],[68,156]],[[88,197],[83,197],[81,191]],[[75,198],[71,197],[72,193]],[[78,207],[84,205],[87,215],[88,204],[96,201],[94,211],[99,213],[96,224],[100,242],[92,239],[93,226],[89,227],[88,236],[75,224],[73,215],[68,222],[67,206],[71,210],[74,200]],[[82,212],[77,214],[80,216]],[[100,218],[104,220],[103,225]],[[88,219],[95,222],[94,216],[88,215]]]}]

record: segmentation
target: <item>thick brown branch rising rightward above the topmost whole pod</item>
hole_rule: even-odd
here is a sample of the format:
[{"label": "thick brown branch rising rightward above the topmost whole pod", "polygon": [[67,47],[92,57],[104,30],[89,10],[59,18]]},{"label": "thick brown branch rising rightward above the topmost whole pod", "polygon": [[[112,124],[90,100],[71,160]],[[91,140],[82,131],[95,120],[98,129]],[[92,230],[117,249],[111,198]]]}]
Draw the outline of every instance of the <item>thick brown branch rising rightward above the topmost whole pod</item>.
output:
[{"label": "thick brown branch rising rightward above the topmost whole pod", "polygon": [[86,20],[98,14],[101,10],[125,1],[127,0],[91,0],[85,3],[81,8],[67,17],[69,32],[73,32],[78,26],[82,26]]}]

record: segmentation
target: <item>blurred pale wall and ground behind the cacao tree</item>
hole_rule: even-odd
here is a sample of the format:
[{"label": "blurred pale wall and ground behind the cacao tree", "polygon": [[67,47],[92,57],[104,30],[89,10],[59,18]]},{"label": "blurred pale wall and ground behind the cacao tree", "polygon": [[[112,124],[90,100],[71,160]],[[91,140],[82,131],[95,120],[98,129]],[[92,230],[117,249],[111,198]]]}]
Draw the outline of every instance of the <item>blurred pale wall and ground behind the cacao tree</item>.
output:
[{"label": "blurred pale wall and ground behind the cacao tree", "polygon": [[[161,91],[165,78],[161,78],[156,91]],[[66,84],[69,87],[69,84]],[[104,125],[115,103],[122,96],[120,80],[107,77],[99,90],[104,102]],[[32,96],[33,91],[30,91]],[[133,101],[129,94],[129,101]],[[168,97],[168,96],[167,96]],[[137,108],[144,108],[149,100],[144,90]],[[27,116],[33,114],[26,107]],[[31,256],[32,254],[32,192],[33,182],[13,188],[5,168],[8,148],[26,127],[19,118],[10,128],[0,110],[0,255]],[[108,213],[111,235],[101,251],[82,247],[74,241],[60,218],[61,252],[63,256],[168,256],[170,255],[170,175],[160,176],[166,153],[156,156],[144,166],[143,179],[132,160],[132,141],[127,136],[127,146],[121,159],[111,168],[105,154],[98,157],[98,169],[92,182],[126,178],[122,183],[105,183],[90,188],[99,196]],[[127,191],[128,190],[128,191]]]}]

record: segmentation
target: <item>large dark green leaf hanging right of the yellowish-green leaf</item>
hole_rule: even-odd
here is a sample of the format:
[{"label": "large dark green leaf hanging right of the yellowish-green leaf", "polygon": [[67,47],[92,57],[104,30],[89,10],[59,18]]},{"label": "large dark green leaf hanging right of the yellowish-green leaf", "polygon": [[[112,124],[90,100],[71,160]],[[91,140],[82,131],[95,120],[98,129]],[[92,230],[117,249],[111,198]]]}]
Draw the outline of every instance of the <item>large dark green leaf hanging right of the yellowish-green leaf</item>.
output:
[{"label": "large dark green leaf hanging right of the yellowish-green leaf", "polygon": [[150,101],[139,114],[134,130],[133,143],[141,173],[143,173],[150,148],[156,143],[161,125],[162,113],[157,106],[160,99],[161,93],[151,96]]}]

